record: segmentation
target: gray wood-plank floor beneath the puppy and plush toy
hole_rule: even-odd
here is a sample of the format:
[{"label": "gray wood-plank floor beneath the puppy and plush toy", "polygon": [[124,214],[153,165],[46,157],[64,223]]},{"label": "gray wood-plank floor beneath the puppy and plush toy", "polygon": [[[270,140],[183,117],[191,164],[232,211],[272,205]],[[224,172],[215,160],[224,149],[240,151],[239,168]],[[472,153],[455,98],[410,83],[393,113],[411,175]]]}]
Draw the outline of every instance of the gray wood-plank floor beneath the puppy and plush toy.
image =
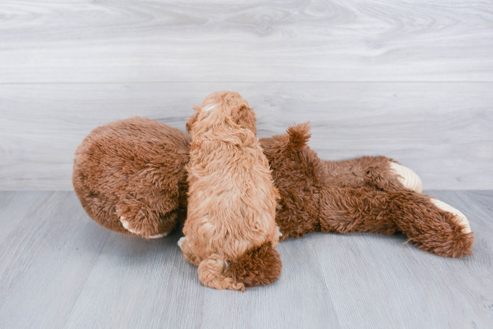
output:
[{"label": "gray wood-plank floor beneath the puppy and plush toy", "polygon": [[491,328],[493,191],[428,193],[469,218],[473,256],[315,233],[279,245],[278,282],[241,293],[203,287],[177,233],[111,233],[73,192],[0,192],[0,327]]}]

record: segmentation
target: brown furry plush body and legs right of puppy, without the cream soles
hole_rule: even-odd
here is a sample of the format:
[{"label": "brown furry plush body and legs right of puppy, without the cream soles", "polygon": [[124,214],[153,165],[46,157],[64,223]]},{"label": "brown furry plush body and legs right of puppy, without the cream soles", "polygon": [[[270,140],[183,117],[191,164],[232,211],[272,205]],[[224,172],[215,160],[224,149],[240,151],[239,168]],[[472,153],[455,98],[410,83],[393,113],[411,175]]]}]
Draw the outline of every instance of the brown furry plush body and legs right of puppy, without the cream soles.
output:
[{"label": "brown furry plush body and legs right of puppy, without the cream soles", "polygon": [[462,233],[455,215],[436,207],[429,196],[402,188],[391,174],[390,159],[321,161],[306,145],[308,138],[304,124],[261,140],[281,194],[276,219],[283,239],[313,231],[400,231],[418,248],[437,255],[472,254],[472,233]]}]

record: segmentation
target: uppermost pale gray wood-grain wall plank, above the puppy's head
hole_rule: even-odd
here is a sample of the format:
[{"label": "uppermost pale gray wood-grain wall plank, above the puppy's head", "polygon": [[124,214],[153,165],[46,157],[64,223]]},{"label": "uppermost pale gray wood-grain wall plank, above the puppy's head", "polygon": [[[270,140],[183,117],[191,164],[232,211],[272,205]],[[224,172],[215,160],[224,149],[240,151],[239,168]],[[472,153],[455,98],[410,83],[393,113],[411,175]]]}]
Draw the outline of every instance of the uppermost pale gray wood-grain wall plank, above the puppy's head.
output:
[{"label": "uppermost pale gray wood-grain wall plank, above the puppy's head", "polygon": [[0,82],[493,81],[493,3],[3,0]]}]

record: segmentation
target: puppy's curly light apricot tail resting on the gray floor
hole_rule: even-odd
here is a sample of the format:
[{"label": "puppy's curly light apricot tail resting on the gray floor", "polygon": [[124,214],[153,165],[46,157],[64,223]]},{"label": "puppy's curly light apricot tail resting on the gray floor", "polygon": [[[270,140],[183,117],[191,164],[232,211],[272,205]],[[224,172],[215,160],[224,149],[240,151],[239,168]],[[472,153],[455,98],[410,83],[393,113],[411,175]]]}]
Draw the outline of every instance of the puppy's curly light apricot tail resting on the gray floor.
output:
[{"label": "puppy's curly light apricot tail resting on the gray floor", "polygon": [[236,282],[232,277],[224,275],[227,263],[223,259],[206,259],[199,265],[198,273],[200,282],[211,288],[219,290],[241,290],[245,291],[243,283]]}]

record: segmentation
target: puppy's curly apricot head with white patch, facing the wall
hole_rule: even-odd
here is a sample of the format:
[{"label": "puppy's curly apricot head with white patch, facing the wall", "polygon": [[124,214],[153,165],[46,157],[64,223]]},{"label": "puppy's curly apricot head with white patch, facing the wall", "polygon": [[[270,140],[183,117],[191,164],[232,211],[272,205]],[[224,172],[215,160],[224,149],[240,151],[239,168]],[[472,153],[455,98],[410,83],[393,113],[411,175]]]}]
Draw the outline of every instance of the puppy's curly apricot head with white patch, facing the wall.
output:
[{"label": "puppy's curly apricot head with white patch, facing the wall", "polygon": [[229,125],[248,129],[257,135],[257,119],[248,102],[234,91],[213,92],[200,106],[194,106],[195,114],[187,121],[189,134],[205,133],[210,128]]}]

